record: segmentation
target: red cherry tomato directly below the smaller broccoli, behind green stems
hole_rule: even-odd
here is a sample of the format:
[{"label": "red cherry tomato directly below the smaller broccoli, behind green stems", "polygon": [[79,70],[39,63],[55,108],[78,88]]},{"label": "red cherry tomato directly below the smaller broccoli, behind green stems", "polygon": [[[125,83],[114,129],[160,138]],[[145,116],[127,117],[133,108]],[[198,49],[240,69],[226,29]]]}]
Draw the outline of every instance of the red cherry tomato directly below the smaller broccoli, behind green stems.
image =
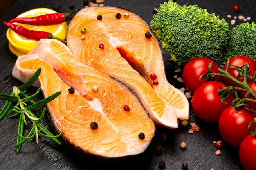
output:
[{"label": "red cherry tomato directly below the smaller broccoli, behind green stems", "polygon": [[[241,67],[244,65],[244,62],[248,63],[248,65],[251,69],[251,71],[249,72],[249,76],[254,76],[254,72],[256,71],[256,62],[253,59],[251,59],[250,57],[246,57],[246,56],[233,57],[229,60],[229,65],[236,65],[238,67]],[[227,64],[227,62],[226,62],[226,64]],[[225,70],[225,69],[226,69],[226,67],[224,66],[223,70]],[[233,76],[235,78],[239,74],[238,70],[236,70],[235,68],[229,68],[228,72],[231,76]],[[233,81],[229,80],[228,78],[223,77],[222,80],[226,86],[238,87],[238,84],[234,83]],[[243,81],[243,76],[239,76],[238,80]]]}]

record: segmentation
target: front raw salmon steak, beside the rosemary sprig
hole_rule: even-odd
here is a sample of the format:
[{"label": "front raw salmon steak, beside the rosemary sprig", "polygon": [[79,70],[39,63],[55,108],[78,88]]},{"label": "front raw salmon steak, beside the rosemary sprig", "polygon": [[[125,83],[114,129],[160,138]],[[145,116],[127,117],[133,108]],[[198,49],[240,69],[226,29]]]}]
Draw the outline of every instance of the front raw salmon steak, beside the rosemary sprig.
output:
[{"label": "front raw salmon steak, beside the rosemary sprig", "polygon": [[43,96],[61,91],[47,109],[63,144],[103,158],[139,155],[148,148],[155,124],[124,86],[53,39],[41,39],[18,57],[12,74],[25,82],[38,68],[42,71],[34,86],[41,87]]}]

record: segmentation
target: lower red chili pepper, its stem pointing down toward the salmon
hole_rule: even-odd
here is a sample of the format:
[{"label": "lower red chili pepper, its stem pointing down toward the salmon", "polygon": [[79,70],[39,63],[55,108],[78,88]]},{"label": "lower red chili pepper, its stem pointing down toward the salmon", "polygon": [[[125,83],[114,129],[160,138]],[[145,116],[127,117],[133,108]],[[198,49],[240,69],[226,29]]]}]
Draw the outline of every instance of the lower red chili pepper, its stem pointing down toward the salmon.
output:
[{"label": "lower red chili pepper, its stem pointing down toward the salmon", "polygon": [[21,35],[27,39],[34,39],[39,41],[40,39],[58,39],[59,41],[66,43],[66,41],[59,39],[58,37],[54,37],[52,33],[48,33],[45,31],[36,31],[36,30],[29,30],[24,28],[23,26],[11,24],[9,22],[4,21],[4,24],[15,31],[18,35]]}]

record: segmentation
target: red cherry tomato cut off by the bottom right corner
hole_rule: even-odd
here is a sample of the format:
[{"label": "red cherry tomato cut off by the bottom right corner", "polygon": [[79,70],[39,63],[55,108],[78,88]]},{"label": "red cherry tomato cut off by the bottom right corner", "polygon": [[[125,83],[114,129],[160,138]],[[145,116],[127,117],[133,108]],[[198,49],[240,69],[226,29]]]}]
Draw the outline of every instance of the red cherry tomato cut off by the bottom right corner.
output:
[{"label": "red cherry tomato cut off by the bottom right corner", "polygon": [[247,135],[239,148],[239,158],[246,170],[256,170],[256,137]]}]

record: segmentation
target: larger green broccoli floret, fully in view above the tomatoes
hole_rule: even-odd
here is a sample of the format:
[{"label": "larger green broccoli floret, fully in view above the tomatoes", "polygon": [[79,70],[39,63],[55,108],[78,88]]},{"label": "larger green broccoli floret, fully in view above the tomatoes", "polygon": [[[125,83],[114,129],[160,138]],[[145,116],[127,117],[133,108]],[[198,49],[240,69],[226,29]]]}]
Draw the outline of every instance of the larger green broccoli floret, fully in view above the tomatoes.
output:
[{"label": "larger green broccoli floret, fully in view above the tomatoes", "polygon": [[196,57],[219,61],[229,39],[224,19],[197,5],[181,6],[171,0],[160,5],[150,28],[179,65]]}]

